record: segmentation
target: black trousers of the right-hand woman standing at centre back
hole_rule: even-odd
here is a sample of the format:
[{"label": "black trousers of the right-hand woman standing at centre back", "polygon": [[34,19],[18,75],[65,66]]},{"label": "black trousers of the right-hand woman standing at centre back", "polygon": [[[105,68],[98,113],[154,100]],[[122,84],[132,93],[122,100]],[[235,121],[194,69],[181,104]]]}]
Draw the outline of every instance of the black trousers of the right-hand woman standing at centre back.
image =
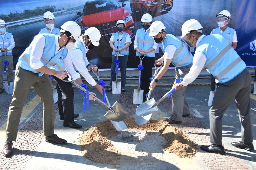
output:
[{"label": "black trousers of the right-hand woman standing at centre back", "polygon": [[[136,56],[138,65],[140,64],[139,56]],[[141,71],[141,85],[140,89],[144,90],[144,97],[149,91],[150,78],[152,76],[152,67],[154,67],[155,57],[144,57],[142,60],[142,66],[144,69]]]}]

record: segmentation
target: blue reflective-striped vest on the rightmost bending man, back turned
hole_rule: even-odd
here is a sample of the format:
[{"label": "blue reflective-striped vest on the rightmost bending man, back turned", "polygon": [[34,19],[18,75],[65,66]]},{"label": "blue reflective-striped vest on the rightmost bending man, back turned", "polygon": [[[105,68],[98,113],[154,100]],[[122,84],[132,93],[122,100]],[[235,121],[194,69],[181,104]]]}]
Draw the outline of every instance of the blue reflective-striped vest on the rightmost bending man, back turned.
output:
[{"label": "blue reflective-striped vest on the rightmost bending man, back turned", "polygon": [[219,34],[203,37],[195,53],[202,52],[206,55],[204,67],[220,83],[226,83],[239,75],[245,68],[245,62],[236,51]]}]

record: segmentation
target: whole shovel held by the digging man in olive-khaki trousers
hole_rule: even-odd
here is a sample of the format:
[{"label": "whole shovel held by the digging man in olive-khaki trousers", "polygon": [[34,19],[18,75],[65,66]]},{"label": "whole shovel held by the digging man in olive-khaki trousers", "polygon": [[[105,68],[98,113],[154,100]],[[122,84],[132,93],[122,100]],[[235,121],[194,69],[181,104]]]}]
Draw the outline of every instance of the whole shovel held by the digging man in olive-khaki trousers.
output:
[{"label": "whole shovel held by the digging man in olive-khaki trousers", "polygon": [[[69,72],[67,72],[69,73]],[[86,89],[84,89],[82,86],[80,86],[79,84],[77,84],[71,74],[69,74],[70,78],[72,81],[67,81],[67,80],[62,80],[64,82],[68,82],[68,83],[72,83],[74,84],[77,88],[81,89],[84,93],[86,93]],[[90,95],[93,95],[91,92],[89,92]],[[93,95],[93,97],[96,99],[96,101],[98,101],[100,104],[102,104],[104,107],[108,108],[107,113],[105,113],[104,117],[106,117],[107,119],[110,119],[112,121],[115,122],[120,122],[122,120],[124,120],[126,118],[126,110],[125,108],[119,104],[117,101],[113,104],[112,107],[109,107],[107,104],[105,104],[103,101],[101,101],[99,98],[97,98],[96,96]]]}]

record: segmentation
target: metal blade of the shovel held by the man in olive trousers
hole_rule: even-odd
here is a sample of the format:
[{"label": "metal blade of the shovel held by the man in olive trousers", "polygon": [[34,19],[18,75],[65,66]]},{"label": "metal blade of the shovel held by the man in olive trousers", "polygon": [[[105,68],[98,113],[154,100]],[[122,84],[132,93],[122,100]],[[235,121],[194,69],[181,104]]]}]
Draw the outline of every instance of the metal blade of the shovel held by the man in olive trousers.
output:
[{"label": "metal blade of the shovel held by the man in olive trousers", "polygon": [[125,108],[117,101],[113,104],[111,109],[119,115],[115,114],[113,111],[109,109],[107,113],[104,115],[104,117],[106,117],[107,119],[110,119],[115,122],[120,122],[126,118],[127,112]]}]

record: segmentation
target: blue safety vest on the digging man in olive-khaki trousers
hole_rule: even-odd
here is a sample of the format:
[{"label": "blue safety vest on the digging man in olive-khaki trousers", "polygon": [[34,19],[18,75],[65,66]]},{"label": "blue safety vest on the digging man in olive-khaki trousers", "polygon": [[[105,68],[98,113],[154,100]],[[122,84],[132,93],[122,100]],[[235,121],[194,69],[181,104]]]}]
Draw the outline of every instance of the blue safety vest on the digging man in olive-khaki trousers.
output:
[{"label": "blue safety vest on the digging man in olive-khaki trousers", "polygon": [[[56,51],[55,36],[57,35],[43,34],[43,36],[45,38],[45,44],[44,44],[43,54],[41,57],[41,62],[48,68],[51,68],[52,66],[58,66],[58,63],[67,56],[68,48],[64,48],[60,50],[57,54],[55,54],[55,51]],[[23,54],[21,54],[18,60],[18,64],[22,69],[29,70],[33,73],[38,73],[38,76],[41,76],[44,73],[38,72],[32,69],[30,66],[31,48],[32,48],[32,44],[30,44],[29,47],[27,47],[26,50],[23,52]]]}]

